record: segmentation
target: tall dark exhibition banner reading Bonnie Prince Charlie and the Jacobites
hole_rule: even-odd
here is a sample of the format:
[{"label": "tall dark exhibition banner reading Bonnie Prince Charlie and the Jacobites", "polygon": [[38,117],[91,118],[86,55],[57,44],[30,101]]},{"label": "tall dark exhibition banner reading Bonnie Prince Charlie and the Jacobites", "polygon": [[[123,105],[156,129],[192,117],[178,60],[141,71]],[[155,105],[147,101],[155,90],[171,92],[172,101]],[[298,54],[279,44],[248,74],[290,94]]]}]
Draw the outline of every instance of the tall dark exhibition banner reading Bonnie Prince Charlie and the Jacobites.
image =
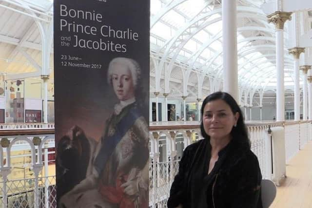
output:
[{"label": "tall dark exhibition banner reading Bonnie Prince Charlie and the Jacobites", "polygon": [[148,207],[149,0],[54,0],[59,208]]}]

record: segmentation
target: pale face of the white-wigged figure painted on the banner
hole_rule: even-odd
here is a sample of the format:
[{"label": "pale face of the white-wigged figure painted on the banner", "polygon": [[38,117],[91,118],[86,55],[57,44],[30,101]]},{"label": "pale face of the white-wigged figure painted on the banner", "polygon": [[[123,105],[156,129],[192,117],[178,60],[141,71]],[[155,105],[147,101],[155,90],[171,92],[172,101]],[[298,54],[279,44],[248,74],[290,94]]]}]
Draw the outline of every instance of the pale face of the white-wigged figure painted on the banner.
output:
[{"label": "pale face of the white-wigged figure painted on the banner", "polygon": [[115,63],[112,69],[112,84],[119,100],[128,100],[135,96],[130,70],[124,64]]}]

